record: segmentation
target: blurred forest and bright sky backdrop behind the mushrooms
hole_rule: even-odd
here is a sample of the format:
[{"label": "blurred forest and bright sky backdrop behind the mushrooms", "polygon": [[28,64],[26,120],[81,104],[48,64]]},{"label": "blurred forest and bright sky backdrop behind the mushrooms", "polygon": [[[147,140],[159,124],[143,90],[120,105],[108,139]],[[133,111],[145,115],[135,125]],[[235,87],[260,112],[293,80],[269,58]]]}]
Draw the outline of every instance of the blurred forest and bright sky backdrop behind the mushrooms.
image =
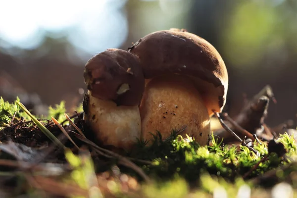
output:
[{"label": "blurred forest and bright sky backdrop behind the mushrooms", "polygon": [[0,96],[19,96],[36,114],[65,100],[71,112],[86,91],[91,56],[172,27],[220,52],[231,116],[270,85],[277,104],[270,102],[266,123],[296,120],[296,0],[0,0]]}]

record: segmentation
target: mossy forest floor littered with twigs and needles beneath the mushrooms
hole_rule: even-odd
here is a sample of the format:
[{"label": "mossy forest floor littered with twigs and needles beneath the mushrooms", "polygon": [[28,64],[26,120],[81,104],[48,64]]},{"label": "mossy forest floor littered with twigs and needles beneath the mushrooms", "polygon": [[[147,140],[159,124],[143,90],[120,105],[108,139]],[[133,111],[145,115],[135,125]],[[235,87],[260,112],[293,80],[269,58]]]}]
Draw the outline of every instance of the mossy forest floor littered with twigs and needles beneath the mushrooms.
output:
[{"label": "mossy forest floor littered with twigs and needles beneath the mushrooms", "polygon": [[270,99],[272,90],[265,87],[236,119],[215,113],[224,128],[213,132],[207,146],[181,136],[183,126],[165,140],[161,133],[149,145],[139,140],[128,153],[93,142],[83,113],[68,116],[63,102],[49,107],[50,117],[32,121],[18,99],[0,99],[0,194],[190,198],[221,191],[235,197],[246,188],[269,197],[283,182],[297,192],[296,128],[265,124]]}]

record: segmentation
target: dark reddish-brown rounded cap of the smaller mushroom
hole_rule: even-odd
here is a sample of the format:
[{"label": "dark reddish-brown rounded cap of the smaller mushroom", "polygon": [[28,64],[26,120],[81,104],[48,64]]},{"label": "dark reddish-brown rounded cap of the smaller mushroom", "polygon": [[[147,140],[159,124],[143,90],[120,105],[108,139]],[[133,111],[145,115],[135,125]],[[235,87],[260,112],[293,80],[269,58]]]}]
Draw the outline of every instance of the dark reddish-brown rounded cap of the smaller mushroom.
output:
[{"label": "dark reddish-brown rounded cap of the smaller mushroom", "polygon": [[92,57],[84,78],[93,97],[117,105],[139,105],[145,88],[138,57],[122,49],[107,49]]}]

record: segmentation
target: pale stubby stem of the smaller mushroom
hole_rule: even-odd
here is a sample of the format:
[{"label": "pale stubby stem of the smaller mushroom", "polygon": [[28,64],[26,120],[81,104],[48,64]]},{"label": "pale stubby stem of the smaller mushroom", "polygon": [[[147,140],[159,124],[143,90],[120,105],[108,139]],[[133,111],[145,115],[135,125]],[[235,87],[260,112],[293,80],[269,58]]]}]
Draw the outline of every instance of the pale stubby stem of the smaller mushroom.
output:
[{"label": "pale stubby stem of the smaller mushroom", "polygon": [[113,101],[97,99],[88,92],[89,103],[84,120],[104,145],[129,150],[141,137],[138,106],[117,106]]}]

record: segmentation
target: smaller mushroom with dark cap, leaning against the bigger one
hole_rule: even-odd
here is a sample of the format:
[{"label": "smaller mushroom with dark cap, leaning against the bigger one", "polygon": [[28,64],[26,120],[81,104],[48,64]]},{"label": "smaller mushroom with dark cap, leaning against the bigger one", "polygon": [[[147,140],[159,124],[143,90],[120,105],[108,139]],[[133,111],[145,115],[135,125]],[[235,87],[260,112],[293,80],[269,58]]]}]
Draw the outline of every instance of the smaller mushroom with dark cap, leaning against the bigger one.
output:
[{"label": "smaller mushroom with dark cap, leaning against the bigger one", "polygon": [[84,79],[86,125],[103,145],[131,149],[141,137],[145,79],[139,59],[122,49],[107,49],[86,63]]}]

